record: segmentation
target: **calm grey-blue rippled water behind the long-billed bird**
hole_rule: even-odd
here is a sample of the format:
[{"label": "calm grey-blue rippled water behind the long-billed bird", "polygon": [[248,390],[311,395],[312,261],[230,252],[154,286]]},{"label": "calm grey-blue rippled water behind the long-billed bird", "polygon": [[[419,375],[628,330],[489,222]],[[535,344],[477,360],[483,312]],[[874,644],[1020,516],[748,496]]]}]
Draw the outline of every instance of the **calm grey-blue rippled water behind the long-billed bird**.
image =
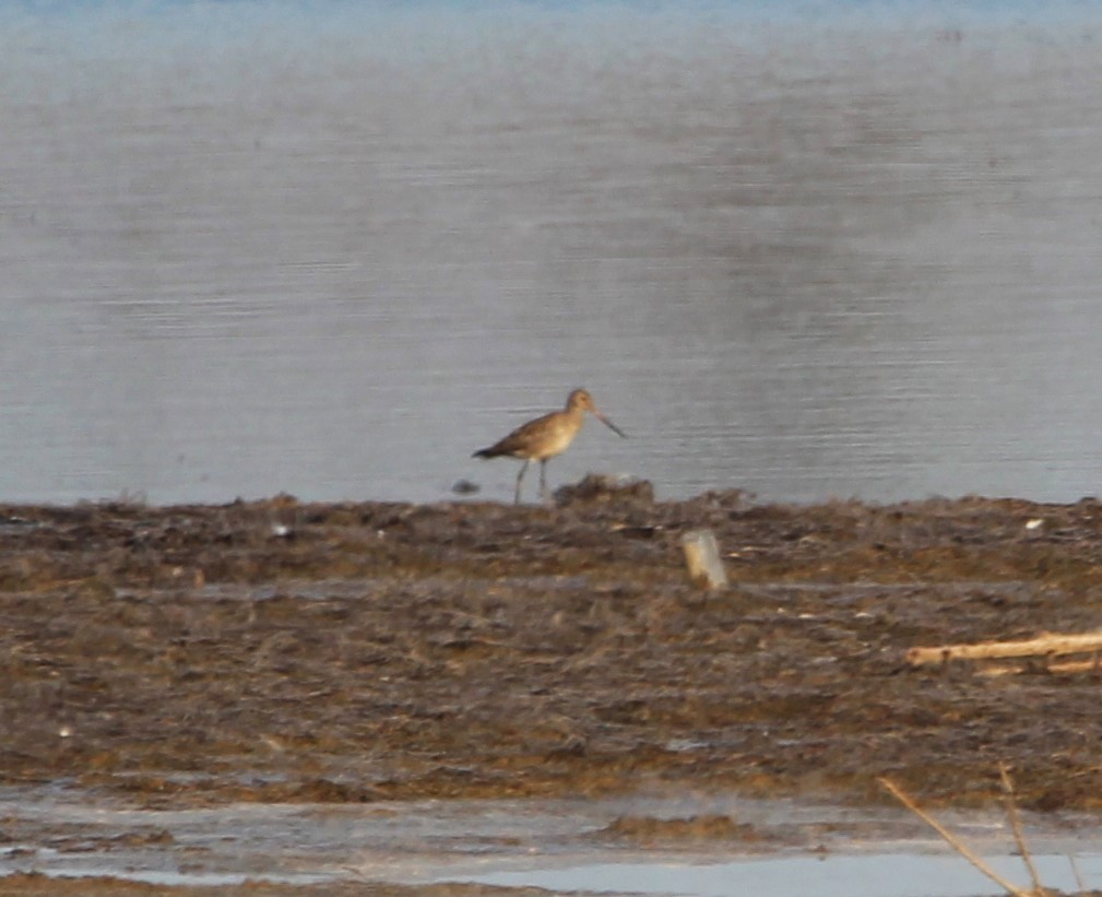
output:
[{"label": "calm grey-blue rippled water behind the long-billed bird", "polygon": [[856,8],[0,13],[0,500],[1096,494],[1102,7]]}]

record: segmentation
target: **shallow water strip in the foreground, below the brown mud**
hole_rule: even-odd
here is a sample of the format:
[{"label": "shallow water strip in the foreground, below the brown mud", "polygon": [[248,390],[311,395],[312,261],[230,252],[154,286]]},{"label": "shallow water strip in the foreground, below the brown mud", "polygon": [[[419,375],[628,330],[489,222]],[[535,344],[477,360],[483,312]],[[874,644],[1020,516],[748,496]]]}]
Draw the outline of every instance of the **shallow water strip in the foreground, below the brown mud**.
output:
[{"label": "shallow water strip in the foreground, below the brown mud", "polygon": [[[372,807],[233,804],[149,811],[84,802],[54,789],[4,789],[8,844],[0,875],[114,875],[168,885],[246,879],[429,884],[480,882],[555,891],[734,897],[970,897],[995,887],[903,810],[709,797],[597,801],[421,801]],[[757,840],[662,837],[630,843],[616,821],[720,813]],[[992,813],[943,813],[1005,877],[1028,886],[1013,839]],[[1048,887],[1071,891],[1076,872],[1102,884],[1096,822],[1026,820]],[[609,828],[612,826],[612,828]],[[683,835],[682,835],[683,839]],[[1069,860],[1073,857],[1073,860]],[[1072,866],[1074,863],[1074,867]]]}]

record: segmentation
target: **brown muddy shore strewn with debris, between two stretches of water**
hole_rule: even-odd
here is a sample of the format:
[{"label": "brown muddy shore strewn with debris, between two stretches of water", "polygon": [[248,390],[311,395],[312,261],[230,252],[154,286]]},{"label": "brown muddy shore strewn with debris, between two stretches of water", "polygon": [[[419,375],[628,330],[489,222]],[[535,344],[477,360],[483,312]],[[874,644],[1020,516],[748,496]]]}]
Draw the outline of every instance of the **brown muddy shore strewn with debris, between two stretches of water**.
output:
[{"label": "brown muddy shore strewn with debris, between two stretches of water", "polygon": [[[687,581],[699,527],[725,592]],[[862,803],[886,775],[959,807],[1005,760],[1023,807],[1096,810],[1096,674],[904,656],[1098,629],[1100,595],[1093,499],[4,506],[0,785],[150,808],[680,785]]]}]

